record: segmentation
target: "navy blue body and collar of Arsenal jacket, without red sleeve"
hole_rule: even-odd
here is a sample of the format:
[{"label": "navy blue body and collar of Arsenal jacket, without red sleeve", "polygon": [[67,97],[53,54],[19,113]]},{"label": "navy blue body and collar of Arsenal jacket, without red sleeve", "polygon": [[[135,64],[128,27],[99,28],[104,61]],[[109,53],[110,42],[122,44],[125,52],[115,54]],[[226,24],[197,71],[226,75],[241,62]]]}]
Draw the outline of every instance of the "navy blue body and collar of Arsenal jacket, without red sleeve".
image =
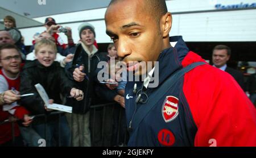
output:
[{"label": "navy blue body and collar of Arsenal jacket, without red sleeve", "polygon": [[[167,48],[159,56],[159,85],[162,84],[172,73],[177,69],[181,69],[181,61],[184,59],[185,55],[188,53],[188,48],[186,47],[183,39],[181,37],[174,37],[171,40],[176,40],[177,44],[175,48]],[[179,52],[179,53],[177,53]],[[188,109],[188,105],[184,104],[184,108],[179,109],[178,118],[172,120],[171,123],[166,123],[162,117],[162,104],[164,99],[166,99],[166,95],[172,95],[177,98],[183,97],[182,94],[182,82],[180,80],[176,84],[175,88],[168,92],[168,94],[163,94],[163,98],[158,102],[159,106],[153,107],[150,113],[142,120],[139,128],[133,129],[130,133],[130,140],[128,145],[131,146],[162,146],[158,141],[158,133],[162,129],[171,129],[172,134],[175,134],[175,142],[176,146],[190,146],[193,145],[193,137],[196,134],[196,125],[193,123],[191,119],[191,113],[184,109]],[[141,89],[142,82],[137,82],[138,89]],[[137,98],[135,94],[133,94],[134,82],[127,82],[125,95],[129,94],[129,96],[133,96],[133,98],[125,100],[126,103],[126,117],[127,124],[130,123],[130,120],[135,111],[135,99]],[[152,95],[152,93],[160,93],[157,91],[157,88],[148,88],[146,91],[148,97]],[[184,97],[183,97],[184,98]],[[147,103],[146,103],[147,104]],[[146,104],[137,104],[137,111],[143,106],[147,106]],[[154,115],[154,117],[152,117]],[[185,117],[189,116],[189,117]],[[134,120],[133,120],[134,121]],[[184,123],[180,123],[184,122]],[[191,123],[187,123],[191,122]],[[179,126],[179,128],[176,128]],[[175,127],[175,128],[173,128]],[[165,133],[162,133],[165,135]],[[167,134],[168,135],[168,134]],[[172,135],[169,136],[171,138]],[[184,139],[186,138],[186,139]],[[163,138],[165,139],[165,138]],[[167,136],[168,139],[168,136]],[[166,143],[172,143],[173,140],[166,140]],[[163,141],[164,142],[164,141]]]}]

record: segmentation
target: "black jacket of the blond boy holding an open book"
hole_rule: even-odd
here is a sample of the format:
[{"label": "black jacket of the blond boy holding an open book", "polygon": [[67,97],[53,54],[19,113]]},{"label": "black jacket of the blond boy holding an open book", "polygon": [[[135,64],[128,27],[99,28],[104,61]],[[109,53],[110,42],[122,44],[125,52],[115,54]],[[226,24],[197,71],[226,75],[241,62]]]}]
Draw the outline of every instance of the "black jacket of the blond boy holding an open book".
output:
[{"label": "black jacket of the blond boy holding an open book", "polygon": [[62,103],[60,94],[69,95],[74,87],[72,81],[65,76],[60,63],[54,61],[49,67],[39,63],[38,60],[28,62],[20,73],[20,94],[34,93],[35,95],[22,97],[20,105],[26,107],[33,115],[48,114],[44,109],[44,102],[35,88],[35,84],[41,84],[46,90],[49,99],[54,103]]}]

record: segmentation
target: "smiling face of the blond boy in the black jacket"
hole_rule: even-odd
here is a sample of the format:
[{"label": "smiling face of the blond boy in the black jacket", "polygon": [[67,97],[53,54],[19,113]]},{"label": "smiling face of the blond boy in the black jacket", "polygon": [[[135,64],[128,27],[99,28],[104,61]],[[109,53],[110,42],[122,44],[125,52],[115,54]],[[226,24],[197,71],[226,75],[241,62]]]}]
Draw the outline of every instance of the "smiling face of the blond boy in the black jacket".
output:
[{"label": "smiling face of the blond boy in the black jacket", "polygon": [[42,65],[46,67],[51,66],[53,61],[56,59],[55,49],[49,45],[42,45],[36,52],[36,58]]}]

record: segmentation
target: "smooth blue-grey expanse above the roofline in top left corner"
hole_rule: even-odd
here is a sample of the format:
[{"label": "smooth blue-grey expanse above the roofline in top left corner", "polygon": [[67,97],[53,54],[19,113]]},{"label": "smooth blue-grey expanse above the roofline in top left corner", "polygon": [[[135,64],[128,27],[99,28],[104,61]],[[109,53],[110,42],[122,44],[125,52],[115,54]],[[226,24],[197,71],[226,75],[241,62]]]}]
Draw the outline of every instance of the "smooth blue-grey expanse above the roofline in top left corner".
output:
[{"label": "smooth blue-grey expanse above the roofline in top left corner", "polygon": [[0,7],[28,18],[107,7],[110,0],[1,0]]}]

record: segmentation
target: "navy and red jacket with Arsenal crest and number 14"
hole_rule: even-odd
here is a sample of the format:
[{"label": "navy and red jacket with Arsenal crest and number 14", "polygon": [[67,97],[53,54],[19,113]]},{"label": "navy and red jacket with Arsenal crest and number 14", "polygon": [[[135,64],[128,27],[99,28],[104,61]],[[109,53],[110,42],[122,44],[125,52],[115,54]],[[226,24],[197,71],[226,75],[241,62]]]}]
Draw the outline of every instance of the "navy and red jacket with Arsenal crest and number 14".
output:
[{"label": "navy and red jacket with Arsenal crest and number 14", "polygon": [[[159,55],[159,86],[176,70],[204,62],[189,51],[181,36],[175,47]],[[141,89],[142,82],[136,82]],[[127,124],[138,109],[135,82],[127,82],[125,106]],[[159,87],[158,86],[158,87]],[[161,93],[147,88],[148,97]],[[133,98],[132,98],[133,97]],[[133,120],[135,121],[135,120]],[[130,132],[129,146],[256,146],[256,110],[230,74],[209,64],[185,73]]]}]

